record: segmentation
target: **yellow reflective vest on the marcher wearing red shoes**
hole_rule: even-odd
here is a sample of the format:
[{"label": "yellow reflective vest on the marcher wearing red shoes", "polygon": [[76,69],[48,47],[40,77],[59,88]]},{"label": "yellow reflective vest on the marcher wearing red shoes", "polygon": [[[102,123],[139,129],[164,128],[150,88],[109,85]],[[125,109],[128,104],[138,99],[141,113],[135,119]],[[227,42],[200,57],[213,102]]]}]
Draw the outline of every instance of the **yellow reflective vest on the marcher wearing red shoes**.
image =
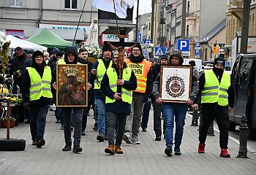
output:
[{"label": "yellow reflective vest on the marcher wearing red shoes", "polygon": [[227,90],[230,88],[230,75],[223,72],[220,84],[212,70],[205,71],[205,77],[206,84],[202,91],[202,103],[218,102],[220,106],[227,106]]}]

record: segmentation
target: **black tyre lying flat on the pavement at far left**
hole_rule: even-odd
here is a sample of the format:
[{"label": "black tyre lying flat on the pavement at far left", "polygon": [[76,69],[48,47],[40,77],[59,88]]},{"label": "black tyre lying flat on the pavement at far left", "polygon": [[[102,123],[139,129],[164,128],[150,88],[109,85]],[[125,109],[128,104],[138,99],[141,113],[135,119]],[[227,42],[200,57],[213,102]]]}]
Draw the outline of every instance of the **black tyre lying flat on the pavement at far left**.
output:
[{"label": "black tyre lying flat on the pavement at far left", "polygon": [[25,148],[23,139],[0,139],[0,151],[23,151]]}]

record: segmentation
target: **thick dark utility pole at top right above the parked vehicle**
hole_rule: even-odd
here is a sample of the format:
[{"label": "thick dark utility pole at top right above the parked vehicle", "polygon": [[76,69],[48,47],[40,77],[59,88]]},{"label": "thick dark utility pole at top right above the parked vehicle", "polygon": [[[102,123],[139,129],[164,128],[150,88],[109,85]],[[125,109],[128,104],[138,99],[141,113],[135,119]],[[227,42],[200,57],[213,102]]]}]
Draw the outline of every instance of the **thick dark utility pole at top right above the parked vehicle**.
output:
[{"label": "thick dark utility pole at top right above the parked vehicle", "polygon": [[240,52],[244,54],[247,53],[250,4],[251,4],[251,0],[244,0],[242,29],[241,29],[241,49],[240,49]]}]

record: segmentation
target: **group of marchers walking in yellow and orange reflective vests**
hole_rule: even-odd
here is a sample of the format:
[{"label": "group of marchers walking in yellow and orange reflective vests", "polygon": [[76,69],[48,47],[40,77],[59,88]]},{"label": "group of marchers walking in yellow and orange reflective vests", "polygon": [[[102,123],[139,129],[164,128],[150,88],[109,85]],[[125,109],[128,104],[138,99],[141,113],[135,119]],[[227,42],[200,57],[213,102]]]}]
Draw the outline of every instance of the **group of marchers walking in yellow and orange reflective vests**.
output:
[{"label": "group of marchers walking in yellow and orange reflective vests", "polygon": [[[44,60],[44,55],[40,51],[35,51],[31,57],[31,64],[22,74],[23,105],[24,108],[29,109],[33,145],[37,147],[45,145],[46,116],[50,104],[56,103],[56,64],[85,63],[89,65],[88,104],[94,106],[94,114],[97,118],[97,140],[99,142],[108,140],[106,153],[123,154],[122,140],[127,144],[140,144],[138,133],[143,115],[143,104],[151,101],[154,110],[156,141],[162,139],[161,114],[164,118],[165,155],[172,156],[173,151],[175,155],[181,155],[185,117],[188,105],[192,105],[195,110],[198,110],[200,106],[202,117],[198,152],[205,152],[207,131],[211,122],[216,119],[220,131],[221,152],[219,156],[230,158],[227,152],[227,123],[228,112],[234,104],[234,91],[230,75],[224,71],[225,58],[216,58],[214,68],[204,71],[200,77],[193,74],[192,93],[186,103],[174,103],[162,101],[159,93],[159,82],[162,77],[159,71],[160,66],[164,64],[181,66],[184,61],[181,52],[174,51],[171,55],[162,55],[158,63],[152,66],[152,63],[143,57],[140,45],[135,45],[130,55],[124,55],[121,76],[118,70],[118,52],[113,52],[113,48],[108,44],[104,45],[102,57],[94,64],[87,60],[88,52],[85,48],[81,48],[78,54],[75,47],[66,47],[64,54],[62,52],[64,58],[61,58],[62,55],[59,53],[60,59],[48,61],[48,63]],[[65,139],[62,151],[83,151],[80,147],[80,140],[81,135],[86,135],[89,109],[73,106],[59,109]],[[74,126],[73,143],[71,123]],[[174,126],[175,131],[173,131]]]}]

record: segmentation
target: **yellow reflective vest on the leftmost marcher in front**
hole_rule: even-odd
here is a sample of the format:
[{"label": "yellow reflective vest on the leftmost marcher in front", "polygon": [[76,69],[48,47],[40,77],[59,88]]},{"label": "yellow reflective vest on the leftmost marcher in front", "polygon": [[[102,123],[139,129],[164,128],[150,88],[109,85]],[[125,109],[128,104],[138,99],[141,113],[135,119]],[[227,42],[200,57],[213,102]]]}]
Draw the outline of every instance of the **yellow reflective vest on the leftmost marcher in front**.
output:
[{"label": "yellow reflective vest on the leftmost marcher in front", "polygon": [[51,81],[51,71],[49,66],[45,66],[44,73],[42,74],[42,79],[38,74],[37,70],[28,67],[26,68],[29,71],[29,77],[31,85],[29,88],[29,101],[38,100],[41,96],[46,98],[53,98],[53,94],[50,90],[50,81]]}]

